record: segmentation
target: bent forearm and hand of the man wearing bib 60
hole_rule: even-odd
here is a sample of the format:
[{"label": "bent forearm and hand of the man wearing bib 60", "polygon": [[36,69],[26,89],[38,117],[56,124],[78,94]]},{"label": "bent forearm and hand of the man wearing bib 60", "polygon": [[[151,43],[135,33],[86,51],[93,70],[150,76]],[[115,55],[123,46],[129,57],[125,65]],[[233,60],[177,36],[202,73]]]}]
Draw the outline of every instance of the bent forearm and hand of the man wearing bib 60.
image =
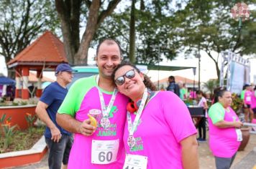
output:
[{"label": "bent forearm and hand of the man wearing bib 60", "polygon": [[96,130],[96,127],[90,125],[91,121],[89,119],[80,122],[68,114],[57,113],[56,121],[58,125],[63,127],[65,130],[80,133],[86,136],[92,135]]}]

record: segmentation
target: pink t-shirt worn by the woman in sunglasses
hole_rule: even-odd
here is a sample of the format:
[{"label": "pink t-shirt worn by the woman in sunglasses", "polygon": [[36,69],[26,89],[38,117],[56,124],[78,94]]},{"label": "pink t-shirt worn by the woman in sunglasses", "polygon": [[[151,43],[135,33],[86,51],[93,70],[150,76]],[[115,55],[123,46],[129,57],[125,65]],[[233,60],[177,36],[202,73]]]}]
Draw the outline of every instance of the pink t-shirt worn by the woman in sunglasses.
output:
[{"label": "pink t-shirt worn by the woman in sunglasses", "polygon": [[[135,115],[132,113],[132,122]],[[147,169],[183,168],[180,141],[195,135],[188,108],[173,92],[161,91],[147,103],[134,131],[136,145],[130,149],[127,122],[124,127],[124,147],[128,154],[147,156]]]}]

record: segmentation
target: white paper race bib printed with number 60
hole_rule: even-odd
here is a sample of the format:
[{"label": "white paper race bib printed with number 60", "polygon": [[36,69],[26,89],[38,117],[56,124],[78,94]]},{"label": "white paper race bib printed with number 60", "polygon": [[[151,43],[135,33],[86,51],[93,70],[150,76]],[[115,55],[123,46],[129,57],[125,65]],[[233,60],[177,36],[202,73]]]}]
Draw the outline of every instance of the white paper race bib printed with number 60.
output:
[{"label": "white paper race bib printed with number 60", "polygon": [[92,140],[91,163],[109,164],[116,161],[119,149],[118,140]]}]

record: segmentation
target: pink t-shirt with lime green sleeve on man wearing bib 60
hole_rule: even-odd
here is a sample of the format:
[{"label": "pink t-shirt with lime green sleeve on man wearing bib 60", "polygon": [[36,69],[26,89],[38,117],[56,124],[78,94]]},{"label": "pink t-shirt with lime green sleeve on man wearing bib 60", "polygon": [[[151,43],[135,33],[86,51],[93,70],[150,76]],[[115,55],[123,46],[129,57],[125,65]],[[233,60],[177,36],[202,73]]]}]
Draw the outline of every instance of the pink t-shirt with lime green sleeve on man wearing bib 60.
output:
[{"label": "pink t-shirt with lime green sleeve on man wearing bib 60", "polygon": [[[99,90],[96,86],[96,79],[94,77],[87,77],[78,79],[68,91],[63,105],[58,110],[59,113],[65,112],[66,114],[73,115],[76,120],[83,121],[88,119],[89,110],[101,110],[101,102],[99,99]],[[105,105],[108,106],[111,100],[112,92],[103,92]],[[78,133],[74,134],[74,143],[70,151],[68,160],[68,168],[89,168],[89,169],[116,169],[122,168],[124,165],[124,142],[123,132],[126,120],[126,105],[129,99],[117,93],[114,104],[109,113],[110,126],[107,128],[101,127],[98,119],[98,126],[96,132],[91,136],[84,136]],[[102,115],[102,114],[101,114]],[[91,163],[92,141],[93,140],[118,140],[119,150],[117,153],[116,161],[109,164],[94,164]],[[98,147],[97,147],[98,148]],[[95,153],[94,153],[95,154]],[[102,158],[104,154],[101,154]],[[105,153],[106,156],[106,153]]]}]

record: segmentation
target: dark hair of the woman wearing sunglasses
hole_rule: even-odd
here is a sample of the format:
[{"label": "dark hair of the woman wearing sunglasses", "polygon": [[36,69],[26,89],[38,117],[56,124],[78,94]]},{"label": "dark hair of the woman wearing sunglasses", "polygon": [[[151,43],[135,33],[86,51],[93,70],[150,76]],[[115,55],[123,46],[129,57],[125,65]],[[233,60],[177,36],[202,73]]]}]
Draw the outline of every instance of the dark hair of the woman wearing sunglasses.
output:
[{"label": "dark hair of the woman wearing sunglasses", "polygon": [[[133,67],[138,73],[140,73],[140,69],[138,69],[134,64],[131,64],[129,62],[123,62],[121,64],[119,64],[116,69],[114,69],[114,72],[112,73],[112,79],[114,81],[114,74],[116,74],[116,71],[121,68],[121,67],[124,67],[124,66],[130,66],[130,67]],[[151,82],[150,80],[150,77],[147,77],[146,74],[143,74],[144,75],[144,84],[145,86],[152,90],[152,91],[156,91],[157,90],[157,87],[155,87],[155,84],[153,84],[153,82]]]}]

